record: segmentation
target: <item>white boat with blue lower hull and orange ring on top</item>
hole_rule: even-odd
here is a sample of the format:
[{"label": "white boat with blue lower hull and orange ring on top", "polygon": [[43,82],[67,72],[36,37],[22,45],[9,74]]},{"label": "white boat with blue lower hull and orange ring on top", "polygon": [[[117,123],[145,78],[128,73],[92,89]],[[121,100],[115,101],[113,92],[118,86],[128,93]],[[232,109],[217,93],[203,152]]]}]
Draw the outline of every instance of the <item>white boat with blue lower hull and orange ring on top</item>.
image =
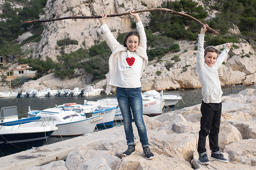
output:
[{"label": "white boat with blue lower hull and orange ring on top", "polygon": [[113,121],[115,118],[116,107],[103,108],[100,106],[88,105],[88,104],[76,104],[76,103],[65,103],[56,106],[55,108],[61,110],[75,111],[82,116],[91,117],[96,115],[101,115],[103,118],[97,121],[97,126],[113,126]]}]

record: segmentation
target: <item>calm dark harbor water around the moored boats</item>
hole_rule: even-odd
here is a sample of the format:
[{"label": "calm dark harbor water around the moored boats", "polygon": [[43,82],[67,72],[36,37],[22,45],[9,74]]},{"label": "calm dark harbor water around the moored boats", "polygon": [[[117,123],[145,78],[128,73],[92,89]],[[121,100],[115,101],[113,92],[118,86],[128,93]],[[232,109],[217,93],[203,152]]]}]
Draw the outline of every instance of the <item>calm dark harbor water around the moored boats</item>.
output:
[{"label": "calm dark harbor water around the moored boats", "polygon": [[[254,88],[253,86],[245,87],[245,88]],[[223,96],[227,96],[231,94],[230,88],[222,88]],[[176,104],[174,107],[170,108],[164,108],[163,113],[174,111],[178,109],[182,109],[184,107],[192,106],[195,104],[199,104],[202,102],[202,94],[201,89],[193,89],[193,90],[177,90],[177,91],[168,91],[168,93],[182,93],[184,94],[182,96],[182,99],[184,101],[184,104],[181,100],[179,101],[179,107],[178,104]],[[100,98],[106,98],[106,97],[116,97],[116,94],[111,94],[106,96],[105,93],[100,94],[98,96],[92,96],[92,97],[22,97],[22,98],[0,98],[0,107],[8,107],[8,106],[17,106],[19,118],[22,117],[28,117],[28,106],[31,107],[31,110],[43,110],[46,108],[55,107],[56,105],[64,104],[64,103],[77,103],[77,104],[84,104],[84,100],[87,101],[96,101]],[[121,124],[121,122],[117,122],[118,124]],[[102,130],[102,129],[100,129]],[[70,139],[70,137],[65,137],[65,139]],[[62,141],[60,137],[49,137],[47,142],[55,143]],[[47,144],[44,142],[44,144]],[[27,148],[0,148],[0,157],[10,155],[16,152],[24,151],[26,149],[30,149],[32,146],[28,146]]]}]

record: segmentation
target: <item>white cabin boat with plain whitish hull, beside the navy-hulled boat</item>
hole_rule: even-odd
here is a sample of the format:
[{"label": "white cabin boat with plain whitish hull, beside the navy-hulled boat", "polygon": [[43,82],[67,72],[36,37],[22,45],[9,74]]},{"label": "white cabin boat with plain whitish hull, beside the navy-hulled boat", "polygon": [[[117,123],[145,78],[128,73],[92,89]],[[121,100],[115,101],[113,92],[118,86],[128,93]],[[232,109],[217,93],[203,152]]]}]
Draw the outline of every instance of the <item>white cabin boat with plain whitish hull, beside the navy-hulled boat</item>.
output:
[{"label": "white cabin boat with plain whitish hull, beside the navy-hulled boat", "polygon": [[44,109],[42,111],[28,110],[29,117],[45,118],[54,120],[58,125],[59,132],[53,132],[52,136],[79,136],[92,133],[96,127],[96,121],[102,119],[100,115],[94,117],[84,117],[75,111],[60,110],[57,108]]}]

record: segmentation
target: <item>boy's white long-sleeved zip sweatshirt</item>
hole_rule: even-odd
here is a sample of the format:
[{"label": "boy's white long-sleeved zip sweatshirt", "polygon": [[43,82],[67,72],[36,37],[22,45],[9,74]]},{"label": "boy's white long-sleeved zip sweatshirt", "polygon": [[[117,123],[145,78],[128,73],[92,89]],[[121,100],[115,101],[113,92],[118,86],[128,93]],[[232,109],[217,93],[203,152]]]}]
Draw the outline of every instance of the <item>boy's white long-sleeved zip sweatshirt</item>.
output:
[{"label": "boy's white long-sleeved zip sweatshirt", "polygon": [[204,103],[220,103],[222,90],[220,86],[218,68],[227,57],[229,48],[225,47],[212,67],[204,63],[204,34],[198,34],[198,48],[196,56],[196,71],[202,85]]}]

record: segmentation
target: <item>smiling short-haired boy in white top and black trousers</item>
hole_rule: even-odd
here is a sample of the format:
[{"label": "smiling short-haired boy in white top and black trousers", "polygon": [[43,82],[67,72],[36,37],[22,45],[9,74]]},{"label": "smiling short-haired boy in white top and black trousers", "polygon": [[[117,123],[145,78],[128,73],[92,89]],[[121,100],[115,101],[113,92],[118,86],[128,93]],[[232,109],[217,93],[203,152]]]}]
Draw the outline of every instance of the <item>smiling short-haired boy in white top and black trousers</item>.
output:
[{"label": "smiling short-haired boy in white top and black trousers", "polygon": [[[205,25],[208,26],[207,24]],[[201,104],[202,117],[200,121],[197,145],[197,151],[199,154],[198,161],[202,165],[210,163],[205,149],[207,135],[209,135],[210,149],[212,150],[210,158],[228,163],[228,160],[223,158],[223,154],[220,153],[220,148],[218,146],[221,96],[223,92],[221,91],[219,73],[217,69],[221,66],[222,62],[228,55],[229,49],[231,48],[227,44],[218,59],[218,50],[215,48],[210,47],[204,50],[204,33],[207,30],[205,25],[201,28],[201,32],[198,35],[198,49],[196,56],[196,70],[198,71],[198,77],[202,85],[203,95]]]}]

